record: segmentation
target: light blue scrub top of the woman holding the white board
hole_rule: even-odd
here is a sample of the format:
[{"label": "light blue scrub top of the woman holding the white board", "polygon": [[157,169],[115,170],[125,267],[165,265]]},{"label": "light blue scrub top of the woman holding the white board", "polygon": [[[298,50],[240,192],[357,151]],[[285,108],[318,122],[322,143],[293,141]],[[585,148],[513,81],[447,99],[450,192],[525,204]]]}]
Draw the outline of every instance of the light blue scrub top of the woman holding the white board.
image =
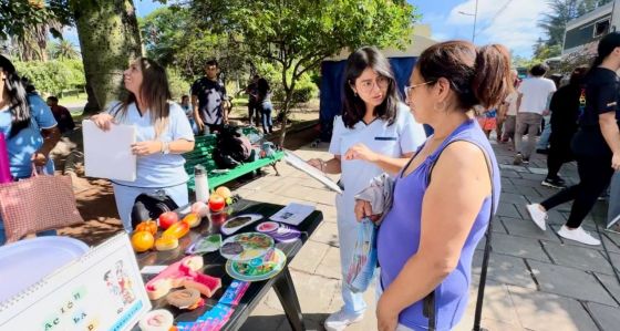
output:
[{"label": "light blue scrub top of the woman holding the white board", "polygon": [[[176,139],[194,142],[194,132],[183,108],[174,102],[168,102],[168,104],[170,105],[169,123],[159,139],[168,143]],[[115,106],[116,104],[111,105],[107,112],[114,110]],[[136,142],[155,139],[155,127],[151,123],[151,112],[145,112],[142,116],[135,103],[127,106],[126,116],[117,115],[116,121],[136,127]],[[178,154],[156,153],[148,156],[138,156],[136,180],[114,180],[114,183],[134,187],[176,186],[186,183],[188,179],[184,164],[185,158]]]}]

